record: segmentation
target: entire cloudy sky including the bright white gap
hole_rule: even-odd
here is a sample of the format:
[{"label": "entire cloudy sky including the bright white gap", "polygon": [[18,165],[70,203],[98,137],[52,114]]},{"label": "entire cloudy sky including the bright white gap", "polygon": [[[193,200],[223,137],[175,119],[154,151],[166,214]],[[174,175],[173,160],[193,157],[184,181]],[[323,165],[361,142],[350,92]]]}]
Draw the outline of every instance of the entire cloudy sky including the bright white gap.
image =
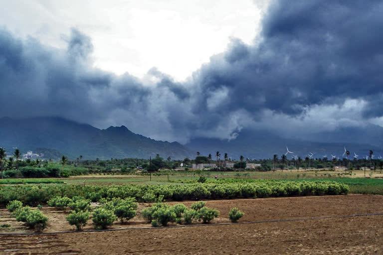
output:
[{"label": "entire cloudy sky including the bright white gap", "polygon": [[383,125],[382,1],[0,4],[0,117],[180,142]]}]

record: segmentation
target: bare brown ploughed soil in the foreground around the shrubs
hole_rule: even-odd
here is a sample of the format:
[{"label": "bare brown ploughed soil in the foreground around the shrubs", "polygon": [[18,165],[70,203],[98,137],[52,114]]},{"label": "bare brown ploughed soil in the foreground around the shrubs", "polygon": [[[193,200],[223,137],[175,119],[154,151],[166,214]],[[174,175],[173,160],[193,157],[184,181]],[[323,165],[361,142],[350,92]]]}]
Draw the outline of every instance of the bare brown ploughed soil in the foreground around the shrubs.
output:
[{"label": "bare brown ploughed soil in the foreground around the shrubs", "polygon": [[[140,204],[140,208],[145,206]],[[245,213],[242,223],[383,213],[383,196],[215,200],[207,206],[217,208],[220,217],[203,227],[7,235],[0,236],[0,254],[383,254],[383,215],[214,226],[229,222],[227,214],[232,207]],[[44,232],[74,230],[66,223],[66,214],[52,208],[44,208],[43,213],[49,217]],[[5,210],[0,211],[2,224],[11,225],[13,233],[26,232],[22,224],[7,218]],[[148,226],[137,217],[113,228]]]}]

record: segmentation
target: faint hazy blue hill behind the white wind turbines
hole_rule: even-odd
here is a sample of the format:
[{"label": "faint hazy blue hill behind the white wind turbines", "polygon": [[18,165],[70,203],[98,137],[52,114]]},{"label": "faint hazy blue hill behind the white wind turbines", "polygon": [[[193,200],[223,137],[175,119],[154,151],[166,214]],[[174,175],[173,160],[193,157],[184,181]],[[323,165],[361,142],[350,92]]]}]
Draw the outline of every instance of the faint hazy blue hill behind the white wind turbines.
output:
[{"label": "faint hazy blue hill behind the white wind turbines", "polygon": [[[223,158],[224,153],[228,153],[228,156],[233,159],[239,159],[240,155],[250,159],[264,159],[272,158],[274,154],[281,158],[281,155],[286,153],[286,146],[295,155],[302,158],[306,157],[309,151],[315,152],[315,158],[327,155],[331,159],[331,154],[342,158],[344,146],[351,152],[350,158],[353,158],[354,152],[360,156],[359,158],[362,158],[369,153],[370,149],[375,151],[376,156],[379,156],[379,153],[381,153],[380,147],[376,145],[356,143],[352,139],[344,140],[344,142],[342,140],[319,142],[287,139],[266,130],[242,130],[236,139],[229,141],[217,138],[194,138],[185,145],[194,151],[199,151],[204,156],[211,153],[213,159],[215,159],[216,151],[220,152],[221,158]],[[288,158],[291,159],[291,154],[288,155]]]}]

